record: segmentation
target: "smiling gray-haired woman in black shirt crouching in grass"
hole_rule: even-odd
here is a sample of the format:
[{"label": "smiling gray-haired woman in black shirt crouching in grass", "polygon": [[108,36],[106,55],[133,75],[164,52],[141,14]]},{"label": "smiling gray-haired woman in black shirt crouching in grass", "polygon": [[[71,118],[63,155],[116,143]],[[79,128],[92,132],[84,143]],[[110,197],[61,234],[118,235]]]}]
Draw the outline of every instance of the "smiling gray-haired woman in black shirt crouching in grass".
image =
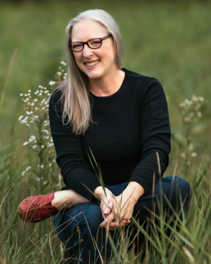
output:
[{"label": "smiling gray-haired woman in black shirt crouching in grass", "polygon": [[[66,33],[67,78],[49,103],[56,161],[66,186],[25,199],[19,210],[29,222],[57,213],[61,241],[72,247],[76,259],[92,263],[98,257],[98,263],[93,237],[102,256],[110,257],[106,229],[128,226],[132,216],[142,224],[155,197],[155,204],[161,199],[168,207],[163,193],[176,208],[180,192],[188,208],[190,186],[178,177],[160,178],[168,166],[171,135],[164,90],[157,79],[121,67],[122,42],[114,19],[103,10],[84,11]],[[89,148],[105,189],[89,161]],[[97,239],[99,226],[102,239]]]}]

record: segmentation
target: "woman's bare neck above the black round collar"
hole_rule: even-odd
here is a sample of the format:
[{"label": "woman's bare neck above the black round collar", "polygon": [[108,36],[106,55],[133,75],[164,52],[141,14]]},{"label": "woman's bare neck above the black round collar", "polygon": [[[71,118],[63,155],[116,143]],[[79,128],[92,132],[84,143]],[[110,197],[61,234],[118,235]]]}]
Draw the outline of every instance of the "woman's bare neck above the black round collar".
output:
[{"label": "woman's bare neck above the black round collar", "polygon": [[109,96],[117,92],[122,85],[125,72],[116,69],[105,77],[89,80],[89,91],[96,96]]}]

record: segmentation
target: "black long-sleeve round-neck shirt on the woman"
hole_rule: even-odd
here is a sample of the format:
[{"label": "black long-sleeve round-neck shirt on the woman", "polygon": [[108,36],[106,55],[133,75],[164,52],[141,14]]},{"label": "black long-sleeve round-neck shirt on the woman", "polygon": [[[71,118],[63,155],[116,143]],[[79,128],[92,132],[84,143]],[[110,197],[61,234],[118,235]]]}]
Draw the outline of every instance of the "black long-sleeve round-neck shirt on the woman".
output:
[{"label": "black long-sleeve round-neck shirt on the woman", "polygon": [[100,186],[88,159],[89,147],[108,186],[136,181],[148,192],[154,173],[155,181],[159,179],[156,152],[161,175],[168,166],[171,131],[163,87],[155,78],[123,70],[125,77],[117,92],[102,97],[90,92],[92,119],[96,123],[83,136],[76,136],[71,126],[62,123],[62,105],[56,105],[61,91],[50,98],[56,162],[66,189],[73,189],[89,200],[92,194],[88,189],[94,191]]}]

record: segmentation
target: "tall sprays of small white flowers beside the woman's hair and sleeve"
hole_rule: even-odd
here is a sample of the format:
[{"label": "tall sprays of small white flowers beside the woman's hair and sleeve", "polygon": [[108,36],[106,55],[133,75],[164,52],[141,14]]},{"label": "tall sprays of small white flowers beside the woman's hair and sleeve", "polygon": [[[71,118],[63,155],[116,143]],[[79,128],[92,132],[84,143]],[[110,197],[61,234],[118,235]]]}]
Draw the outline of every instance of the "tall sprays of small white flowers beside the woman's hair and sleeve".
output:
[{"label": "tall sprays of small white flowers beside the woman's hair and sleeve", "polygon": [[[21,175],[29,174],[33,168],[36,174],[36,179],[46,185],[49,181],[44,175],[51,175],[55,171],[53,168],[56,165],[55,150],[53,140],[50,134],[50,124],[48,118],[49,98],[56,86],[58,86],[65,78],[63,66],[66,63],[61,61],[59,71],[55,75],[55,81],[50,81],[49,88],[42,85],[34,92],[28,90],[25,94],[20,94],[24,102],[25,114],[19,117],[19,122],[28,128],[29,138],[23,143],[29,151],[33,151],[33,164],[29,164]],[[36,160],[36,164],[35,163]],[[30,170],[31,169],[31,170]],[[51,171],[50,171],[51,170]],[[45,179],[45,181],[43,181]]]}]

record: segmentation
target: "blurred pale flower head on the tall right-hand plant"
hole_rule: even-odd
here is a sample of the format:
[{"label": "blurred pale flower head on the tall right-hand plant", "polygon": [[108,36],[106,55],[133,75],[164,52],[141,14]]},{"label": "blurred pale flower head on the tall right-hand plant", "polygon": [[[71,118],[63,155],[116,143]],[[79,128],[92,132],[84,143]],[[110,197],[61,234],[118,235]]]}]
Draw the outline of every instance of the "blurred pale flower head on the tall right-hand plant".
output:
[{"label": "blurred pale flower head on the tall right-hand plant", "polygon": [[185,99],[185,101],[179,105],[182,121],[184,123],[197,122],[202,116],[200,108],[203,102],[204,98],[202,96],[195,96],[195,94],[191,96],[191,100]]}]

